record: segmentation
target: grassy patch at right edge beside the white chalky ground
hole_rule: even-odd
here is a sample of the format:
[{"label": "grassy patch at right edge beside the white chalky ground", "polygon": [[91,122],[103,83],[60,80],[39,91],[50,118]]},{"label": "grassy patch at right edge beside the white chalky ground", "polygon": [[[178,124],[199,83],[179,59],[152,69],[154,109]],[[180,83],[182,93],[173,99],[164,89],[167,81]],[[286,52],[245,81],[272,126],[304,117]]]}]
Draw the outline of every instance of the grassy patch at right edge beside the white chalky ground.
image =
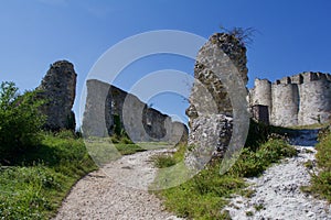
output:
[{"label": "grassy patch at right edge beside the white chalky ground", "polygon": [[331,202],[331,132],[324,132],[316,145],[318,174],[312,174],[311,186],[302,187],[303,191],[312,193]]}]

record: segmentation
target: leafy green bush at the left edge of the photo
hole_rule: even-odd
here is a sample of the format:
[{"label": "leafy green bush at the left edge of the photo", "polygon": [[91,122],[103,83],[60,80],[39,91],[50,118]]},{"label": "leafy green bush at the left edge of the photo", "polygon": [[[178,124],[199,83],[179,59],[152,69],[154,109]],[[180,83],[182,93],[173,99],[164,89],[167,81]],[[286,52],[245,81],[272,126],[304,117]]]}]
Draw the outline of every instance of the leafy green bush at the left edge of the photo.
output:
[{"label": "leafy green bush at the left edge of the photo", "polygon": [[0,160],[22,152],[40,143],[40,131],[45,117],[39,107],[38,91],[20,95],[14,82],[2,82],[0,87]]}]

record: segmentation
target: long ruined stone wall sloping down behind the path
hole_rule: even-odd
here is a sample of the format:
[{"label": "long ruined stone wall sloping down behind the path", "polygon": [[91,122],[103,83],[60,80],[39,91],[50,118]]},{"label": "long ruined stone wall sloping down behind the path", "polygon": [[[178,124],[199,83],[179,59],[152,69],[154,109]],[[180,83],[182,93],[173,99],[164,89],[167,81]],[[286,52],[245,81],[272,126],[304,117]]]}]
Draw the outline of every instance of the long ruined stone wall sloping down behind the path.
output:
[{"label": "long ruined stone wall sloping down behind the path", "polygon": [[83,135],[111,136],[126,132],[134,142],[185,142],[188,128],[149,108],[136,96],[107,82],[89,79],[83,118]]}]

